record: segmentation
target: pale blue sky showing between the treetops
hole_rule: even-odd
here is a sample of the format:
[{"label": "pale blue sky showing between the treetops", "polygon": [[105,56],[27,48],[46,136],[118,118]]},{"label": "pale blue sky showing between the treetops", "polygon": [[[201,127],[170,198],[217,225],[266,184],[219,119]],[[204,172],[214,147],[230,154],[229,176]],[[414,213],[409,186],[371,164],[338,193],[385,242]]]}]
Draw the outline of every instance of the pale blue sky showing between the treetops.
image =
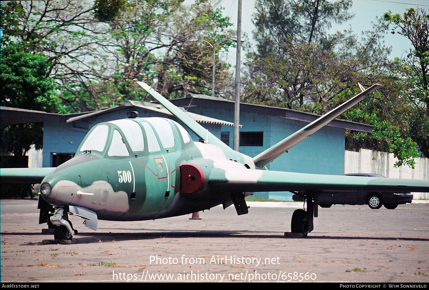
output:
[{"label": "pale blue sky showing between the treetops", "polygon": [[[186,3],[192,3],[192,0],[186,0]],[[252,31],[254,25],[252,23],[252,15],[255,12],[256,0],[242,0],[242,31],[248,34],[249,41],[253,41]],[[238,0],[221,0],[220,5],[224,7],[224,16],[229,16],[234,29],[237,27],[238,16]],[[405,9],[423,8],[429,12],[429,0],[353,0],[353,5],[349,12],[355,16],[346,23],[341,25],[332,25],[332,33],[336,30],[345,30],[352,28],[353,32],[360,35],[362,31],[372,29],[372,22],[377,21],[377,16],[381,17],[384,12],[403,14]],[[388,33],[384,38],[385,45],[392,46],[390,57],[406,57],[407,50],[411,48],[411,42],[404,36],[397,33]],[[234,64],[236,62],[236,50],[231,49],[224,54],[225,59]],[[245,53],[241,53],[242,63],[245,60]]]}]

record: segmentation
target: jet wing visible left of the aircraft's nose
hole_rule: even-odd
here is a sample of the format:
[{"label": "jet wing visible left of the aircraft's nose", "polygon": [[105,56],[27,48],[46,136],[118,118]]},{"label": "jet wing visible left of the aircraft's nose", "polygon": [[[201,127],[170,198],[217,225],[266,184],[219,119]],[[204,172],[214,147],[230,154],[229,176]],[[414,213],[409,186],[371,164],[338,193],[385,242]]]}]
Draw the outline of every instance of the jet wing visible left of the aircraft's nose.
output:
[{"label": "jet wing visible left of the aircraft's nose", "polygon": [[36,184],[42,182],[43,178],[54,169],[55,167],[2,168],[0,169],[0,181]]}]

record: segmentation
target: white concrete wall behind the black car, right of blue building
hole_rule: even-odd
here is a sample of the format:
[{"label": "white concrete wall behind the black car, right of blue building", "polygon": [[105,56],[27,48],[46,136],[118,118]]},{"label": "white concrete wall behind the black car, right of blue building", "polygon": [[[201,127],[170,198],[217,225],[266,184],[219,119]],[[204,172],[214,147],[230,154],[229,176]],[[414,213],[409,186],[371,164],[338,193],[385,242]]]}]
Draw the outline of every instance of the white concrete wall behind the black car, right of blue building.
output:
[{"label": "white concrete wall behind the black car, right of blue building", "polygon": [[[344,173],[377,173],[390,178],[429,180],[429,159],[418,157],[414,169],[403,165],[393,167],[397,158],[393,153],[360,149],[359,152],[345,151]],[[413,193],[414,199],[429,199],[429,193]]]}]

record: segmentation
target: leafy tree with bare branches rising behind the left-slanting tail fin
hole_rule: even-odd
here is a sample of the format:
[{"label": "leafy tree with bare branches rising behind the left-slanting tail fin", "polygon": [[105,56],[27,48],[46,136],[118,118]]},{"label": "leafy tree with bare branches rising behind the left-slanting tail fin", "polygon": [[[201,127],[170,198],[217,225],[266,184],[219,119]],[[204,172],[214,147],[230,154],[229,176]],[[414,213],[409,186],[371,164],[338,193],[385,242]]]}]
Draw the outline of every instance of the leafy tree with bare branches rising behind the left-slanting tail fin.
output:
[{"label": "leafy tree with bare branches rising behind the left-slanting tail fin", "polygon": [[[199,0],[191,6],[182,2],[129,2],[109,22],[110,41],[118,48],[106,66],[116,64],[109,80],[124,98],[138,97],[131,96],[136,80],[157,79],[157,91],[166,97],[208,92],[213,44],[232,35],[227,30],[232,24],[221,9],[213,8],[216,1]],[[229,45],[223,42],[221,47]],[[226,67],[219,59],[217,63],[219,69]]]}]

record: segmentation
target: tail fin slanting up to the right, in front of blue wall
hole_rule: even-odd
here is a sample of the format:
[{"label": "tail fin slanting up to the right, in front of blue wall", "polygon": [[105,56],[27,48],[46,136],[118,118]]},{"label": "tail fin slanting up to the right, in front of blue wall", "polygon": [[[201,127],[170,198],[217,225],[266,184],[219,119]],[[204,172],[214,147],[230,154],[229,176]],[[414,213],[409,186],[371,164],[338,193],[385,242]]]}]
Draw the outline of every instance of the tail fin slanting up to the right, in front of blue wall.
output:
[{"label": "tail fin slanting up to the right, in front of blue wall", "polygon": [[333,119],[337,118],[339,115],[341,115],[342,113],[350,109],[360,100],[362,100],[372,92],[376,91],[380,87],[381,87],[380,84],[372,85],[372,87],[366,89],[365,91],[362,91],[360,94],[357,94],[347,102],[341,104],[340,106],[336,107],[332,111],[326,113],[325,115],[321,116],[317,120],[311,122],[301,130],[296,131],[292,135],[278,142],[276,145],[258,154],[253,158],[253,162],[255,163],[256,166],[263,167],[268,163],[274,161],[282,154],[284,154],[287,150],[297,145],[299,142],[301,142],[302,140],[304,140],[305,138],[307,138],[308,136],[310,136],[311,134],[313,134],[314,132],[316,132],[326,124],[328,124]]}]

